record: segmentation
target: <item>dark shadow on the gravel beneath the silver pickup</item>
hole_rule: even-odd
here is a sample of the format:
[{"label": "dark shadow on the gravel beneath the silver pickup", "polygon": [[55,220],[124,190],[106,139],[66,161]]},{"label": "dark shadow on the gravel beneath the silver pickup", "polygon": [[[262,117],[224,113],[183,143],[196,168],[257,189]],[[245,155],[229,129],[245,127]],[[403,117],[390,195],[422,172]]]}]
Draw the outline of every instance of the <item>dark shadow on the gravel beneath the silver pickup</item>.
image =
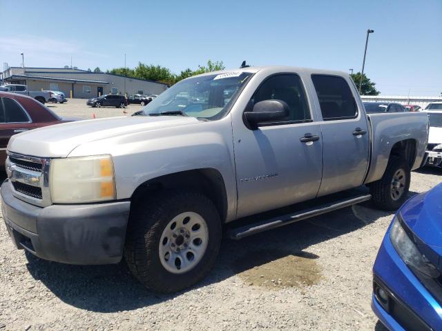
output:
[{"label": "dark shadow on the gravel beneath the silver pickup", "polygon": [[[316,243],[363,228],[379,217],[390,214],[370,207],[370,203],[363,203],[354,207],[357,210],[354,208],[337,210],[240,241],[224,239],[215,267],[204,281],[191,290],[218,283],[237,274],[244,279],[241,277],[242,272],[273,261],[275,263],[271,265],[284,268],[285,264],[281,259],[285,258],[302,260],[304,264],[305,274],[298,274],[296,279],[289,281],[294,281],[298,288],[311,285],[321,277],[320,270],[315,269],[315,259],[318,257],[305,250]],[[364,217],[356,216],[360,214],[364,214]],[[30,253],[26,253],[26,257],[27,268],[32,277],[44,283],[65,303],[84,310],[94,312],[135,310],[173,299],[186,292],[155,294],[131,276],[124,262],[117,265],[84,266],[44,261]],[[311,270],[316,270],[319,278],[309,278]],[[282,279],[282,282],[284,281]],[[256,280],[244,279],[244,283],[260,285]]]}]

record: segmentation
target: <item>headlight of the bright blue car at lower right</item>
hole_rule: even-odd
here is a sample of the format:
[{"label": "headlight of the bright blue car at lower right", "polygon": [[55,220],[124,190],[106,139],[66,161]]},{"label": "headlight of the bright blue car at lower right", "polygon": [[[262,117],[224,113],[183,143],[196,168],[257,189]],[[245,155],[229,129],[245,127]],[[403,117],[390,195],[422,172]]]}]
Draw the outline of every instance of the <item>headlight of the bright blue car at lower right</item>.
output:
[{"label": "headlight of the bright blue car at lower right", "polygon": [[436,267],[432,265],[421,252],[419,252],[416,245],[414,245],[413,241],[408,237],[407,232],[403,229],[397,216],[393,219],[390,240],[392,241],[396,252],[398,252],[406,265],[412,267],[414,270],[418,270],[427,277],[437,278],[440,276],[440,272]]}]

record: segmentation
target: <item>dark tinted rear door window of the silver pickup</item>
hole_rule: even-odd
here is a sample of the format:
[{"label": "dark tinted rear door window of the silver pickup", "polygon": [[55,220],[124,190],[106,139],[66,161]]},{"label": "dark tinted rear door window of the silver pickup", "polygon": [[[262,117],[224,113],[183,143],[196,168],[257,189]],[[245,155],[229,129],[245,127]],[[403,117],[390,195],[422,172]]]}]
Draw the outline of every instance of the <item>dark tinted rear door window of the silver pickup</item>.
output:
[{"label": "dark tinted rear door window of the silver pickup", "polygon": [[313,74],[311,80],[318,94],[324,121],[354,119],[358,116],[356,101],[345,79],[325,74]]}]

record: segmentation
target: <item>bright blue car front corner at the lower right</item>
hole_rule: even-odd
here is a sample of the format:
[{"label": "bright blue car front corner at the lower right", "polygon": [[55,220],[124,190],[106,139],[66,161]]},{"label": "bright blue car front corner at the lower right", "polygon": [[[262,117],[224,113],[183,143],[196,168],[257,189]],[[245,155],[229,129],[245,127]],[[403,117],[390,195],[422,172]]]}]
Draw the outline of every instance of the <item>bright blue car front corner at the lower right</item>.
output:
[{"label": "bright blue car front corner at the lower right", "polygon": [[442,184],[394,216],[373,267],[372,309],[390,330],[442,330]]}]

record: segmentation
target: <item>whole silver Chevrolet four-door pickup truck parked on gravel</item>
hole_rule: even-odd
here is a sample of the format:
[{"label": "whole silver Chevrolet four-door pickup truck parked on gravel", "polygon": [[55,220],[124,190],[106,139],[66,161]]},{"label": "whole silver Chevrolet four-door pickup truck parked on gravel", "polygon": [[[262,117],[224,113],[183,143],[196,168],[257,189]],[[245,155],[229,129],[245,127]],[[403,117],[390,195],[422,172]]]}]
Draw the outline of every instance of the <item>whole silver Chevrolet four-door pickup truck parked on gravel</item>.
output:
[{"label": "whole silver Chevrolet four-door pickup truck parked on gravel", "polygon": [[135,114],[12,137],[1,207],[17,248],[124,257],[148,288],[182,290],[223,228],[240,239],[367,199],[398,208],[428,135],[426,113],[367,115],[348,74],[305,68],[202,74]]}]

